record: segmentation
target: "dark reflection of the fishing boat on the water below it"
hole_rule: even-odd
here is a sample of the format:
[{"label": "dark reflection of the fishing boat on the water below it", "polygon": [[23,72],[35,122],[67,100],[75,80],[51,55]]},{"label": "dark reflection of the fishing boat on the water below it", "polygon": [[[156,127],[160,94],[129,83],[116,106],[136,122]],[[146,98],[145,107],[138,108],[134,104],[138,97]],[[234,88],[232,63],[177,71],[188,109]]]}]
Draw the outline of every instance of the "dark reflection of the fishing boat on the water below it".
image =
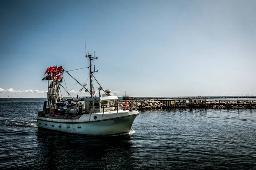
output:
[{"label": "dark reflection of the fishing boat on the water below it", "polygon": [[131,139],[125,136],[74,136],[39,131],[38,154],[45,168],[88,169],[92,167],[134,169]]}]

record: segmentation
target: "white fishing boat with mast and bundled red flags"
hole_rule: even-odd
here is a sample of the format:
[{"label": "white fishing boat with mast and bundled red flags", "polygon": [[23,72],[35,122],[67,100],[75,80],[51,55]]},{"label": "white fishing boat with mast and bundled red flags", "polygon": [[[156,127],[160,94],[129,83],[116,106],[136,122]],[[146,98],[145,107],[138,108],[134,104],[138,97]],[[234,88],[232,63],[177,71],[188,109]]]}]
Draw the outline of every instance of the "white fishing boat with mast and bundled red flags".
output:
[{"label": "white fishing boat with mast and bundled red flags", "polygon": [[[125,109],[119,107],[118,97],[111,94],[111,90],[104,90],[94,77],[91,62],[98,59],[94,55],[86,54],[89,59],[90,89],[78,82],[62,66],[47,68],[43,80],[48,80],[47,101],[44,102],[42,111],[38,112],[38,128],[56,130],[65,133],[76,133],[85,135],[112,135],[128,133],[139,112],[133,102],[126,101]],[[61,85],[63,74],[71,76],[82,89],[85,89],[90,96],[79,98],[71,97],[67,89]],[[99,96],[96,96],[93,78],[99,85]],[[61,87],[70,95],[70,98],[61,98]],[[101,96],[102,92],[102,96]]]}]

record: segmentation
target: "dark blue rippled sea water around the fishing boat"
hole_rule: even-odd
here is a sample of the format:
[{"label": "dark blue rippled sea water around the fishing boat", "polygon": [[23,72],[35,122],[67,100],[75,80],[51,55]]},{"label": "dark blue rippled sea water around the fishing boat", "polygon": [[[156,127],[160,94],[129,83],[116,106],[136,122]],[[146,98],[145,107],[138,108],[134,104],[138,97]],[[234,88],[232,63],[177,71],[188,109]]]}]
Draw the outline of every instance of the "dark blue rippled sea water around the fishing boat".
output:
[{"label": "dark blue rippled sea water around the fishing boat", "polygon": [[256,110],[141,111],[130,133],[39,131],[45,99],[0,99],[0,169],[256,169]]}]

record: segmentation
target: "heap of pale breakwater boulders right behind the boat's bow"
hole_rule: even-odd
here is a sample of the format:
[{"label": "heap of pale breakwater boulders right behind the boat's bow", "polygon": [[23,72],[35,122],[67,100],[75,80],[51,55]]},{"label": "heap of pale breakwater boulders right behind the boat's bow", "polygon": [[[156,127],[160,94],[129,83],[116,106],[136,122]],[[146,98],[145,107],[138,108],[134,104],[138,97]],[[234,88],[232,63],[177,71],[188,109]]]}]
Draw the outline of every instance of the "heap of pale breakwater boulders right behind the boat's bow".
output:
[{"label": "heap of pale breakwater boulders right behind the boat's bow", "polygon": [[[141,100],[141,101],[132,101],[131,106],[133,109],[137,110],[152,110],[152,109],[165,109],[166,105],[161,102],[154,101],[154,99],[149,99],[149,101]],[[119,102],[119,108],[125,109],[125,101]]]}]

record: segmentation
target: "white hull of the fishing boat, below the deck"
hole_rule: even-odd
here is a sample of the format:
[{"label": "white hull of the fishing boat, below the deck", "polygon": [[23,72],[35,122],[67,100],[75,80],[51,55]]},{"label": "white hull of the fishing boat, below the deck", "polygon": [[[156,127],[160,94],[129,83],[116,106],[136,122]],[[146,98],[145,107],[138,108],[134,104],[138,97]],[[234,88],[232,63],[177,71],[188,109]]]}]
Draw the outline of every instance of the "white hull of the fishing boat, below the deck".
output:
[{"label": "white hull of the fishing boat, below the deck", "polygon": [[107,114],[93,113],[83,114],[79,119],[52,119],[38,116],[37,122],[38,128],[65,133],[111,135],[129,132],[138,114],[138,111]]}]

